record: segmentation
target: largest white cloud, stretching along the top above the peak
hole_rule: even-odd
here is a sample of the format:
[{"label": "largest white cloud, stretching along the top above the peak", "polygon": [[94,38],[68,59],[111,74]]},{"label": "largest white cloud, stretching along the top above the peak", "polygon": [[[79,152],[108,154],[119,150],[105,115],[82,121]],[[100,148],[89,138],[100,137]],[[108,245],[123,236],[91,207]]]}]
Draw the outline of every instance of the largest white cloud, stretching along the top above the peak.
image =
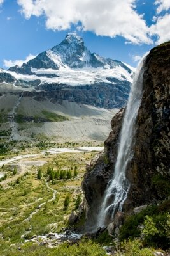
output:
[{"label": "largest white cloud, stretching along the top above the peak", "polygon": [[152,44],[149,28],[139,15],[136,0],[18,0],[26,19],[46,16],[46,28],[66,30],[81,22],[83,31],[123,36],[132,44]]}]

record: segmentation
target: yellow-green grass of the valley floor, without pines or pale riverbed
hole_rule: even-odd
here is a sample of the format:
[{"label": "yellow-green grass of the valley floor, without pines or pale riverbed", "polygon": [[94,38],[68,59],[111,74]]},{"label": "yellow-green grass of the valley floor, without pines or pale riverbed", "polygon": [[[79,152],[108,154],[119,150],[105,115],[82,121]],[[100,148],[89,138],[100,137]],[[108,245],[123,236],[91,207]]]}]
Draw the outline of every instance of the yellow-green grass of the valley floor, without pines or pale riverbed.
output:
[{"label": "yellow-green grass of the valley floor, without pines or pale riverbed", "polygon": [[[52,198],[53,191],[46,187],[43,179],[37,179],[38,168],[36,166],[29,168],[29,173],[23,176],[18,184],[15,175],[12,176],[11,167],[4,166],[3,170],[9,173],[8,177],[14,179],[10,188],[1,189],[0,191],[0,233],[4,240],[8,241],[10,239],[10,242],[15,244],[22,243],[21,236],[30,225],[32,225],[32,230],[28,232],[25,238],[31,238],[34,235],[41,235],[46,232],[60,232],[61,228],[67,227],[69,214],[74,210],[74,201],[80,193],[78,189],[81,188],[85,165],[94,154],[95,152],[85,154],[64,153],[58,154],[56,157],[43,157],[48,163],[38,168],[41,169],[44,176],[48,166],[54,170],[71,170],[72,168],[72,172],[77,166],[78,170],[78,177],[56,180],[55,184],[49,182],[49,186],[57,190],[57,198],[52,202],[48,202],[48,200]],[[71,197],[71,202],[68,209],[64,211],[66,196]],[[45,205],[32,216],[30,223],[25,221],[29,214],[42,202],[45,202]]]}]

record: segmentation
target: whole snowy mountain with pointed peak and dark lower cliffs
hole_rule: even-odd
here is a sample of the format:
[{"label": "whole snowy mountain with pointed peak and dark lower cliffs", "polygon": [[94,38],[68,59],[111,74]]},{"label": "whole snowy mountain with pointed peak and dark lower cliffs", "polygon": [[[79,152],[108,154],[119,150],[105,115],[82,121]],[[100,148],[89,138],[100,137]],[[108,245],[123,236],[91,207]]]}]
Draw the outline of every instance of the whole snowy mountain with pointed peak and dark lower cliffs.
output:
[{"label": "whole snowy mountain with pointed peak and dark lower cliffs", "polygon": [[[32,60],[0,70],[0,83],[13,84],[36,99],[77,102],[97,108],[125,106],[134,69],[118,60],[91,53],[83,38],[67,33],[66,38]],[[45,93],[43,93],[45,92]]]}]

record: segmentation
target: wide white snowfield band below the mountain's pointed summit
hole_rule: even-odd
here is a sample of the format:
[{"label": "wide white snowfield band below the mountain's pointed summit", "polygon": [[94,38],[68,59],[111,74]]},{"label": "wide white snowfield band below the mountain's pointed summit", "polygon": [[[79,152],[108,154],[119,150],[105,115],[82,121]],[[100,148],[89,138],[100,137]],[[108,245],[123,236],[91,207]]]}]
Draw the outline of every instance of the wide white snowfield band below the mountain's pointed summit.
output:
[{"label": "wide white snowfield band below the mountain's pointed summit", "polygon": [[[57,59],[56,61],[60,60]],[[61,63],[60,63],[61,65]],[[36,74],[57,74],[59,77],[41,77],[36,75],[24,75],[15,73],[12,71],[8,71],[12,76],[14,76],[17,80],[22,79],[25,81],[33,81],[36,79],[41,80],[41,84],[43,83],[65,83],[69,84],[71,86],[78,86],[78,85],[85,85],[85,84],[94,84],[94,83],[111,83],[114,84],[111,81],[108,81],[106,77],[115,78],[120,81],[129,81],[132,83],[132,77],[127,70],[125,70],[121,66],[117,66],[113,69],[103,69],[103,68],[90,68],[90,67],[84,67],[82,69],[71,69],[67,66],[61,66],[59,70],[53,70],[52,68],[49,69],[36,69],[32,68],[32,72]]]}]

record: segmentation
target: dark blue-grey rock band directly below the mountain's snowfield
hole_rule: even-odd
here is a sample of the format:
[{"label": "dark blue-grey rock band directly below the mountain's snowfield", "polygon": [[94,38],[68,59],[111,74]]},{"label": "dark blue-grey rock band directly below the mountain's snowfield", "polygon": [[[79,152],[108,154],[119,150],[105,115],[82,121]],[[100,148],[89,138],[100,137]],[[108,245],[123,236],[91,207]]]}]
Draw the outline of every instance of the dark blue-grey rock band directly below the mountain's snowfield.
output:
[{"label": "dark blue-grey rock band directly below the mountain's snowfield", "polygon": [[[34,81],[18,80],[15,85],[29,88],[37,84],[35,90],[24,91],[24,97],[34,97],[35,100],[41,101],[45,99],[54,102],[68,100],[69,102],[77,102],[78,104],[87,104],[99,108],[122,108],[125,106],[130,83],[128,81],[117,81],[117,84],[97,83],[96,86],[68,86],[67,84],[41,84],[38,79]],[[126,84],[126,86],[124,86]]]}]

